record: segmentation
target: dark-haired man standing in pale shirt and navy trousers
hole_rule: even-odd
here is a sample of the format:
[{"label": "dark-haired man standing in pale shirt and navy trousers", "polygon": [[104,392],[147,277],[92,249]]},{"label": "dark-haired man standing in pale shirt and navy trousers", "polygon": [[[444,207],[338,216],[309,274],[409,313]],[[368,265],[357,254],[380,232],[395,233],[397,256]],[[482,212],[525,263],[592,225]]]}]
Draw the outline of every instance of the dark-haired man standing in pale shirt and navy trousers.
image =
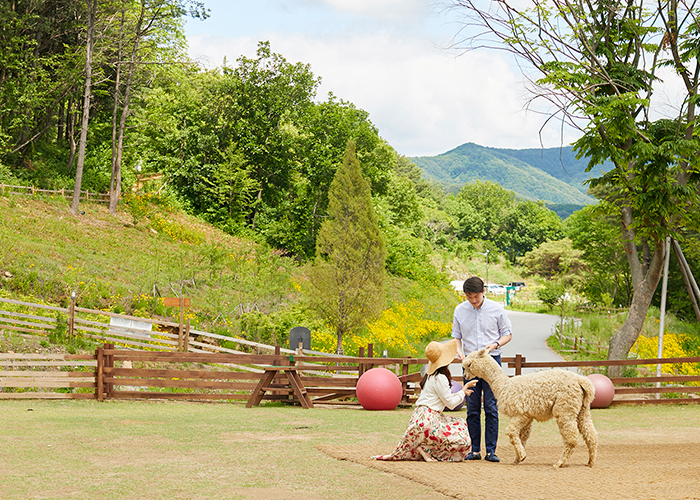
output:
[{"label": "dark-haired man standing in pale shirt and navy trousers", "polygon": [[[452,319],[452,337],[460,339],[457,344],[457,357],[464,359],[465,354],[482,348],[501,364],[501,347],[513,338],[511,324],[503,306],[487,299],[484,295],[484,282],[473,276],[463,285],[466,302],[455,308]],[[467,383],[467,379],[464,379]],[[498,443],[498,407],[491,387],[485,380],[477,379],[477,384],[467,399],[467,427],[472,440],[472,451],[466,460],[481,460],[481,400],[483,395],[484,414],[484,445],[485,459],[489,462],[499,462],[496,456]]]}]

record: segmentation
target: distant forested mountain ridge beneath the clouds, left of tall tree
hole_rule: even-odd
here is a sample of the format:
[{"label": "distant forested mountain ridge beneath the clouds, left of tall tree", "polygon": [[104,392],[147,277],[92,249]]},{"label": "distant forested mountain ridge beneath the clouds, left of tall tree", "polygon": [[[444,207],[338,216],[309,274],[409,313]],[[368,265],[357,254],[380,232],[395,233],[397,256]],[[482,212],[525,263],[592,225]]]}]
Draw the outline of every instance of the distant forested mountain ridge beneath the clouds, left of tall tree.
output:
[{"label": "distant forested mountain ridge beneath the clouds, left of tall tree", "polygon": [[571,146],[497,149],[466,143],[441,155],[411,160],[448,191],[457,192],[475,180],[493,181],[523,199],[557,205],[593,203],[583,181],[600,170],[586,172],[587,160],[577,160]]}]

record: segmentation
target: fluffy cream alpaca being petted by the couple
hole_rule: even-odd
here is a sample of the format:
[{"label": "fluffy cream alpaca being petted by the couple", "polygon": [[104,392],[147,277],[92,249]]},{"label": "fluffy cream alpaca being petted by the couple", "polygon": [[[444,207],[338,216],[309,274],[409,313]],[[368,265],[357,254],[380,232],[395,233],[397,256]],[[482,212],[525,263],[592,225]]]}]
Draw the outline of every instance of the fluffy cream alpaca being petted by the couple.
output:
[{"label": "fluffy cream alpaca being petted by the couple", "polygon": [[598,433],[591,419],[595,387],[588,377],[566,370],[547,370],[512,378],[503,372],[486,349],[470,353],[462,362],[467,379],[484,379],[498,400],[498,410],[510,417],[506,433],[515,448],[515,462],[525,460],[525,443],[532,421],[557,421],[564,451],[554,465],[564,465],[578,443],[578,433],[588,446],[588,466],[593,467]]}]

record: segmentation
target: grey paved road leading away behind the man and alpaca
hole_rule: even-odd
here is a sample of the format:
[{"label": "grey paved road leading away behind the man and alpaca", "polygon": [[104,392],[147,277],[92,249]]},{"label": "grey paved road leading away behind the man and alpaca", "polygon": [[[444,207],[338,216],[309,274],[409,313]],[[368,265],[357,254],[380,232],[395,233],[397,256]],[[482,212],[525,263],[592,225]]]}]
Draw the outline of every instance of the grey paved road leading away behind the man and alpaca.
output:
[{"label": "grey paved road leading away behind the man and alpaca", "polygon": [[[511,310],[507,313],[513,324],[513,340],[503,347],[502,356],[522,354],[527,361],[564,361],[547,346],[547,337],[552,334],[559,316]],[[504,367],[503,370],[506,375],[515,374],[513,368]],[[537,370],[538,368],[523,368],[522,372],[531,373]],[[462,373],[462,367],[453,364],[450,365],[450,371],[458,375]]]}]

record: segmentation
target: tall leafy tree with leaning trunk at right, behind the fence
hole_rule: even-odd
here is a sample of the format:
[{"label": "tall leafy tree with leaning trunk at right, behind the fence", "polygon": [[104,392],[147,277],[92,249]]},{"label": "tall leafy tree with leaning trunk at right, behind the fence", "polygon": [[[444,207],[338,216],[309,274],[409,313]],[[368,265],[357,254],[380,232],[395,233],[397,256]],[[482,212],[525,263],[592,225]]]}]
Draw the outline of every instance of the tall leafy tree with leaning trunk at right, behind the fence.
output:
[{"label": "tall leafy tree with leaning trunk at right, behind the fence", "polygon": [[[546,99],[550,118],[582,131],[574,147],[589,158],[589,170],[614,164],[591,184],[610,190],[630,268],[629,313],[608,351],[610,359],[624,358],[658,286],[664,240],[684,238],[700,202],[700,10],[677,0],[453,3],[485,28],[469,38],[472,46],[505,49],[539,75],[530,81],[533,99]],[[654,84],[664,70],[664,80],[680,84],[680,104],[671,118],[654,120]]]}]

